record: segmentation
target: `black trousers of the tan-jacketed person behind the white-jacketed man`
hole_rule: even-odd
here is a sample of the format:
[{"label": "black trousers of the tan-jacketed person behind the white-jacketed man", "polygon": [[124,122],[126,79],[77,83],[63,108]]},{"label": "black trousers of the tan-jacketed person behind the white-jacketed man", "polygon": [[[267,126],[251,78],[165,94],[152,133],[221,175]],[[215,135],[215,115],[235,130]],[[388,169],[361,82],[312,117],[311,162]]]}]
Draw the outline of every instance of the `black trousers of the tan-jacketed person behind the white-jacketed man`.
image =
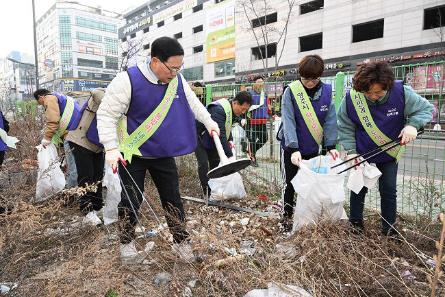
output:
[{"label": "black trousers of the tan-jacketed person behind the white-jacketed man", "polygon": [[94,153],[85,147],[68,141],[77,167],[77,182],[79,187],[85,187],[97,182],[97,191],[88,191],[79,198],[80,211],[84,215],[90,211],[100,211],[102,208],[103,152]]}]

